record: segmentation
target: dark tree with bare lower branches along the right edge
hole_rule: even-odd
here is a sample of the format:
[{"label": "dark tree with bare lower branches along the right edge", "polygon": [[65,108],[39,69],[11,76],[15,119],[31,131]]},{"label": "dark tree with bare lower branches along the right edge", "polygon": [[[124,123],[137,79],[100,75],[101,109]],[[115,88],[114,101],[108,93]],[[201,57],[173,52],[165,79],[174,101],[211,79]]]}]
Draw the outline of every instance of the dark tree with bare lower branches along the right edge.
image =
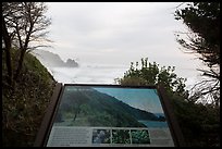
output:
[{"label": "dark tree with bare lower branches along the right edge", "polygon": [[175,11],[175,20],[188,26],[187,39],[177,35],[178,44],[197,53],[208,70],[198,70],[205,77],[190,90],[190,99],[211,99],[220,105],[220,2],[193,2]]}]

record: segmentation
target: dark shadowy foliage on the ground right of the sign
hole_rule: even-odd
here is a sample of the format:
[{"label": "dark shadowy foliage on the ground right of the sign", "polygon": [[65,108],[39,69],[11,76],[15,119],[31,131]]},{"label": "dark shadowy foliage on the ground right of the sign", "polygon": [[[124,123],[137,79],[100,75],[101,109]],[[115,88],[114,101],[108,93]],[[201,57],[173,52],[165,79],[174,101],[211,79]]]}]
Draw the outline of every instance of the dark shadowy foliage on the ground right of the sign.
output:
[{"label": "dark shadowy foliage on the ground right of the sign", "polygon": [[186,102],[177,96],[171,96],[170,99],[187,146],[220,147],[219,108]]}]

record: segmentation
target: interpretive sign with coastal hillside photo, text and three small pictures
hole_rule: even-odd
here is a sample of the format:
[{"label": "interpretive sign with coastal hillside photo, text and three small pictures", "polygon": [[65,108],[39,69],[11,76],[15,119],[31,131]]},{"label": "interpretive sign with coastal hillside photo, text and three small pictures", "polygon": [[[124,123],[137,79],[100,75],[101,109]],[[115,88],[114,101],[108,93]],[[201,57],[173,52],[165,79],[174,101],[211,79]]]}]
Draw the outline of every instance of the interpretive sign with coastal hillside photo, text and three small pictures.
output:
[{"label": "interpretive sign with coastal hillside photo, text and three small pictures", "polygon": [[38,136],[44,137],[39,146],[180,146],[156,87],[65,84],[57,100],[45,135]]}]

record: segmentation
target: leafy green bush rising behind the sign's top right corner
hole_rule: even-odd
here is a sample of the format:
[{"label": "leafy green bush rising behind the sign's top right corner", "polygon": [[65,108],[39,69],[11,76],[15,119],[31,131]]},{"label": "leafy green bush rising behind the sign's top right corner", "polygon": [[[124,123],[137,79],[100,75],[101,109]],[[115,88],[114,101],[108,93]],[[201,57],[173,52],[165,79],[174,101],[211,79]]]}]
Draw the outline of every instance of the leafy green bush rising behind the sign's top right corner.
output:
[{"label": "leafy green bush rising behind the sign's top right corner", "polygon": [[138,65],[138,62],[135,66],[132,62],[123,78],[116,78],[115,82],[121,85],[162,85],[166,91],[188,98],[188,91],[185,90],[186,79],[177,77],[174,66],[160,67],[156,62],[148,62],[148,58],[141,59],[140,69]]}]

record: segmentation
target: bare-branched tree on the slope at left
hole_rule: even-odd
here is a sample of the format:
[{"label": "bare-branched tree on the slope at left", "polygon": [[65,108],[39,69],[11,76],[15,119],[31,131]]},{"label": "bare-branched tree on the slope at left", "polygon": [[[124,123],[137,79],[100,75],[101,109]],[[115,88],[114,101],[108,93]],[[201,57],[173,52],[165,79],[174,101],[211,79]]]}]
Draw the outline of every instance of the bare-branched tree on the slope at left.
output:
[{"label": "bare-branched tree on the slope at left", "polygon": [[[47,7],[44,2],[3,2],[2,15],[2,39],[4,41],[7,55],[12,47],[20,50],[17,67],[14,74],[14,79],[20,75],[25,52],[39,47],[47,40],[45,37],[48,32],[47,27],[51,24],[45,13]],[[8,58],[7,61],[10,61]],[[8,70],[10,64],[8,65]],[[9,75],[10,72],[8,73]],[[10,77],[11,77],[10,76]]]}]

